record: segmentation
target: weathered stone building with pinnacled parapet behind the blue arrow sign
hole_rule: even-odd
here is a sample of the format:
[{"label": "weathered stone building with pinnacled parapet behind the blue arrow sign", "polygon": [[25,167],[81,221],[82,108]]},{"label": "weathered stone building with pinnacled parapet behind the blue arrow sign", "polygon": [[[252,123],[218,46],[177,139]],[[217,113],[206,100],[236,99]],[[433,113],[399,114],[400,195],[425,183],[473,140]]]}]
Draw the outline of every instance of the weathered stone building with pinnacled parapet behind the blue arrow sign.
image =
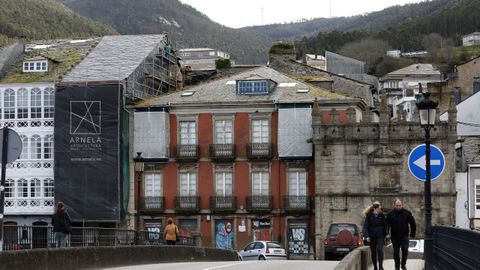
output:
[{"label": "weathered stone building with pinnacled parapet behind the blue arrow sign", "polygon": [[[373,122],[364,114],[355,121],[356,112],[347,110],[347,123],[341,124],[338,112],[331,110],[330,121],[322,121],[323,112],[314,104],[312,109],[313,143],[315,149],[315,250],[323,258],[323,240],[333,222],[352,222],[362,228],[362,210],[373,201],[380,201],[384,211],[392,208],[394,198],[404,201],[412,211],[418,237],[424,231],[424,184],[413,177],[408,156],[424,143],[424,130],[418,123],[402,117],[392,122],[386,98],[380,105],[380,120]],[[438,115],[438,114],[437,114]],[[358,118],[358,117],[357,117]],[[443,174],[432,182],[433,224],[454,224],[456,109],[451,103],[448,122],[440,122],[431,131],[432,144],[445,155]]]}]

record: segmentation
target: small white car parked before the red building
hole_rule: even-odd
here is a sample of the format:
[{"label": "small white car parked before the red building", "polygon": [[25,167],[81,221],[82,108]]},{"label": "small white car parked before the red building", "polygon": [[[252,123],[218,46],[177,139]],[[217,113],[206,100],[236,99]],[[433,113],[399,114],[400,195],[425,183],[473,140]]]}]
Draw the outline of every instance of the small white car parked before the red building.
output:
[{"label": "small white car parked before the red building", "polygon": [[286,260],[287,253],[282,245],[273,241],[254,241],[238,251],[242,261],[246,260]]}]

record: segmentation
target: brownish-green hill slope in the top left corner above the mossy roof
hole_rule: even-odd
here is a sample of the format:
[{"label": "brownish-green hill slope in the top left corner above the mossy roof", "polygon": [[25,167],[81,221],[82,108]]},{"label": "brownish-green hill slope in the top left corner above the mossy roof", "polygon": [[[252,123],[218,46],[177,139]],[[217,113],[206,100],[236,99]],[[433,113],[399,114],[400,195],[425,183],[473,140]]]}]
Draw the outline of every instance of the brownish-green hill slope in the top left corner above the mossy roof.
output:
[{"label": "brownish-green hill slope in the top left corner above the mossy roof", "polygon": [[31,39],[82,38],[118,34],[55,0],[0,0],[0,36]]}]

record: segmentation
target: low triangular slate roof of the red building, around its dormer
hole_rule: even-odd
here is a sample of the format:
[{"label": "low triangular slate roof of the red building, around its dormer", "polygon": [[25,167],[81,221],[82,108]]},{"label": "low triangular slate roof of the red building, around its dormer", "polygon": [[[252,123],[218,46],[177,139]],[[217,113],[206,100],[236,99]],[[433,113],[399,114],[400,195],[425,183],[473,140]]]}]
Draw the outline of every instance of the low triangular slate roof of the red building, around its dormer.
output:
[{"label": "low triangular slate roof of the red building, around its dormer", "polygon": [[[236,80],[267,79],[276,83],[276,87],[268,95],[237,95],[235,88]],[[283,84],[282,84],[283,83]],[[285,83],[290,83],[284,87]],[[294,85],[292,84],[294,83]],[[280,86],[282,84],[282,86]],[[307,93],[298,93],[298,89],[309,89]],[[191,96],[182,96],[187,92],[193,92]],[[140,101],[138,107],[164,106],[167,104],[238,104],[250,102],[271,103],[305,103],[318,100],[360,100],[360,98],[339,94],[327,89],[315,87],[298,80],[292,79],[272,68],[257,67],[233,76],[207,82],[190,87],[183,91]]]}]

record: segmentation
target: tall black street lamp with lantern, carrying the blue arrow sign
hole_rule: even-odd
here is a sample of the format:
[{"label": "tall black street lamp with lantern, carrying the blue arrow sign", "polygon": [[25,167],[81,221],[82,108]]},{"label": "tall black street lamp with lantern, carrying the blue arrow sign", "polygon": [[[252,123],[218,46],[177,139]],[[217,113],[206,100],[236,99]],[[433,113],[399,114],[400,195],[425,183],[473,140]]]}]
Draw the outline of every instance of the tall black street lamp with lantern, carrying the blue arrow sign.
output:
[{"label": "tall black street lamp with lantern, carrying the blue arrow sign", "polygon": [[425,129],[425,270],[433,269],[432,191],[430,177],[430,129],[435,125],[438,102],[430,99],[430,93],[421,93],[416,105],[420,113],[420,125]]}]

